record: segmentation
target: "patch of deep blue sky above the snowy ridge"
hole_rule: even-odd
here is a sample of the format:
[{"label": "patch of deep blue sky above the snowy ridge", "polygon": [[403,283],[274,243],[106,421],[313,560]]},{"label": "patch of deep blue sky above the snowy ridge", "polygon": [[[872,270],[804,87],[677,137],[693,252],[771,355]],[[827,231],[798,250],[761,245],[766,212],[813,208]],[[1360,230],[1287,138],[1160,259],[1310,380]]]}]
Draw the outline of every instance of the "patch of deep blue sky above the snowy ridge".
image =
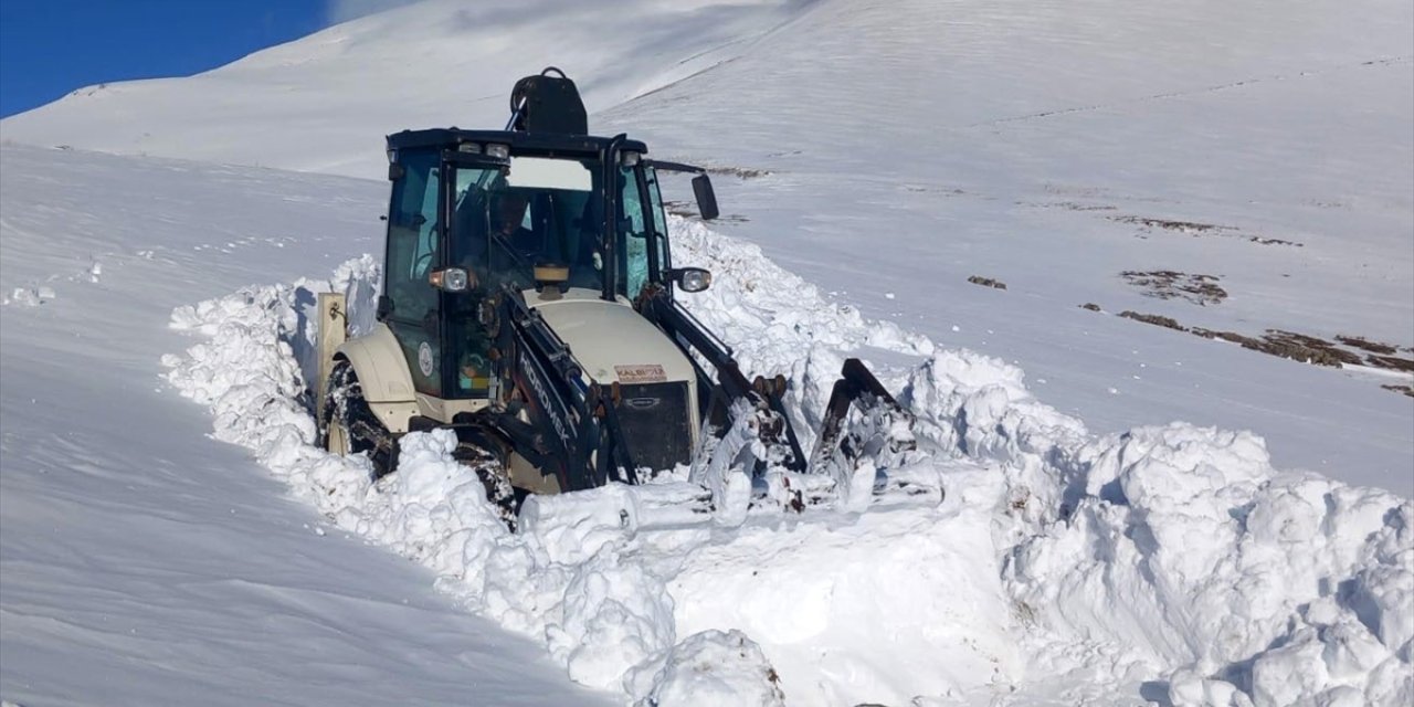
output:
[{"label": "patch of deep blue sky above the snowy ridge", "polygon": [[392,4],[402,3],[0,0],[0,116],[92,83],[199,74]]}]

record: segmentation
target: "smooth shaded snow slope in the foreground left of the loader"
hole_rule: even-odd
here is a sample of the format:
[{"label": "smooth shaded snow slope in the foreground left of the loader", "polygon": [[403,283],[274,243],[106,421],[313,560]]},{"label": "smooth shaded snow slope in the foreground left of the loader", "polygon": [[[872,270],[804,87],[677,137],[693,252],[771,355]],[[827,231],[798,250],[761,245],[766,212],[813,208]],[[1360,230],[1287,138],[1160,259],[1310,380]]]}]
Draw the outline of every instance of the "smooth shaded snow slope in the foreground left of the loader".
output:
[{"label": "smooth shaded snow slope in the foreground left of the loader", "polygon": [[291,502],[158,378],[189,344],[173,307],[369,249],[382,184],[13,146],[0,160],[0,284],[54,290],[0,308],[0,697],[602,700],[431,573]]}]

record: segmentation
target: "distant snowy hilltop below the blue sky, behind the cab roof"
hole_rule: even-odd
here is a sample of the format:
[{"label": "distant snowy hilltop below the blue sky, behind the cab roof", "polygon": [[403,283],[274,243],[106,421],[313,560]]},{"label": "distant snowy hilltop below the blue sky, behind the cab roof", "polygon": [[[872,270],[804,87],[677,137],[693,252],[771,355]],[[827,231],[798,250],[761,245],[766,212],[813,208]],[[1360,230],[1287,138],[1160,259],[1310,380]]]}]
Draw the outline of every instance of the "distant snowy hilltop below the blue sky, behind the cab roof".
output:
[{"label": "distant snowy hilltop below the blue sky, behind the cab roof", "polygon": [[[88,86],[0,127],[25,143],[378,178],[383,134],[505,126],[508,81],[556,64],[601,109],[710,66],[786,11],[754,0],[430,0],[197,76]],[[607,37],[622,18],[625,31]]]}]

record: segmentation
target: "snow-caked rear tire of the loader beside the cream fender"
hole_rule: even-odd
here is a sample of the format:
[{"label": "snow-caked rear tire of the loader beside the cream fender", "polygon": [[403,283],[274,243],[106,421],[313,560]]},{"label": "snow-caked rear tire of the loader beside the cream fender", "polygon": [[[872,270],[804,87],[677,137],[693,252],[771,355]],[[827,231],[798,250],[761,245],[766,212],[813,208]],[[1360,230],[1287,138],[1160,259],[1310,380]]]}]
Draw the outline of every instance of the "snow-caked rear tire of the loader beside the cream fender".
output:
[{"label": "snow-caked rear tire of the loader beside the cream fender", "polygon": [[363,400],[358,373],[348,361],[329,372],[324,404],[320,409],[320,441],[341,455],[366,454],[373,462],[373,478],[392,474],[397,458],[397,440],[383,427]]}]

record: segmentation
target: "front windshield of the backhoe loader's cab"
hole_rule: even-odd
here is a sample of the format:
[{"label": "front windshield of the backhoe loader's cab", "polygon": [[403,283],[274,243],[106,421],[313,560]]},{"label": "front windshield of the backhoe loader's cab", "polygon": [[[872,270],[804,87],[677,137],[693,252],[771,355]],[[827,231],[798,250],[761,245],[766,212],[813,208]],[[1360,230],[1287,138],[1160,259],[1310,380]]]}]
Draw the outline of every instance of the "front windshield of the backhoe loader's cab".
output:
[{"label": "front windshield of the backhoe loader's cab", "polygon": [[509,170],[460,167],[451,264],[488,286],[534,287],[536,264],[570,267],[570,286],[604,287],[592,163],[515,157]]}]

